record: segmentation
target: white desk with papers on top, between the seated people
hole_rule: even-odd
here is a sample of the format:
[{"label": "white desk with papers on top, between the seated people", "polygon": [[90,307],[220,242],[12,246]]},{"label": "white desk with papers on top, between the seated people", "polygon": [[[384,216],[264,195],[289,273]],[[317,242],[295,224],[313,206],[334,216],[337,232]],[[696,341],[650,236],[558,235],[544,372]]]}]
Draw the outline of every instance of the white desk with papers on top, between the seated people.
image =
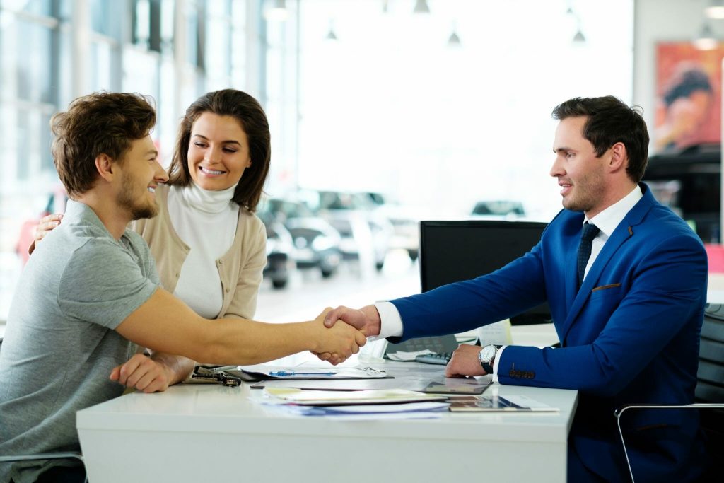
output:
[{"label": "white desk with papers on top, between the seated people", "polygon": [[[395,374],[394,364],[381,365]],[[79,411],[77,428],[93,483],[564,482],[576,391],[492,390],[560,413],[334,421],[271,411],[246,386],[180,385]]]}]

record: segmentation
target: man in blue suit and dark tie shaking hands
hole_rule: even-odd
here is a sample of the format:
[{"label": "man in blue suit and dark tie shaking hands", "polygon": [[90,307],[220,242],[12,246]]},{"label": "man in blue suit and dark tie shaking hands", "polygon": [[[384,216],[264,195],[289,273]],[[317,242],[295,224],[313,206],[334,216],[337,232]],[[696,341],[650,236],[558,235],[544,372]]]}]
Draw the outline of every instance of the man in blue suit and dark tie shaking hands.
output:
[{"label": "man in blue suit and dark tie shaking hands", "polygon": [[[573,98],[553,117],[550,175],[563,210],[529,253],[474,280],[336,308],[325,323],[342,320],[398,342],[464,332],[547,301],[560,348],[461,345],[447,375],[578,390],[568,481],[626,482],[615,408],[694,402],[707,256],[689,226],[641,183],[649,135],[636,109],[612,96]],[[631,413],[624,430],[636,482],[699,477],[695,411]]]}]

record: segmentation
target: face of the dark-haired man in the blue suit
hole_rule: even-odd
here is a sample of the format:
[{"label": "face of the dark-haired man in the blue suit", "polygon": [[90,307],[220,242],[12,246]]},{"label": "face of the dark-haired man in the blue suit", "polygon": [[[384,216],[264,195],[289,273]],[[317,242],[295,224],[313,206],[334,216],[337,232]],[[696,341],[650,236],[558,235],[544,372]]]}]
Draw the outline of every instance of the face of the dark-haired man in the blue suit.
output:
[{"label": "face of the dark-haired man in the blue suit", "polygon": [[588,118],[566,117],[555,130],[555,161],[550,170],[558,178],[563,207],[584,211],[589,218],[605,208],[605,167],[610,149],[597,157],[593,144],[584,138]]}]

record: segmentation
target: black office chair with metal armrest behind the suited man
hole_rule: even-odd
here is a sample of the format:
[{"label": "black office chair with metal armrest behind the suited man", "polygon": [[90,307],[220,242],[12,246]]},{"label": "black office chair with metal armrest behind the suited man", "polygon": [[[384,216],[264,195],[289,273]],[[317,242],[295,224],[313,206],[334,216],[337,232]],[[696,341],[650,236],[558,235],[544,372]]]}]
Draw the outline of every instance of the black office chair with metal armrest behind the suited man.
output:
[{"label": "black office chair with metal armrest behind the suited man", "polygon": [[[623,406],[615,411],[618,434],[623,444],[623,454],[626,455],[628,472],[633,479],[631,461],[626,451],[626,441],[623,438],[621,429],[621,416],[623,413],[636,409],[693,409],[701,411],[700,421],[702,432],[707,445],[707,453],[712,456],[709,461],[715,461],[715,457],[724,454],[724,305],[710,304],[704,313],[702,324],[702,339],[699,345],[699,371],[696,374],[696,402],[689,405],[636,405]],[[710,481],[715,469],[710,467],[704,476],[704,481]],[[716,475],[720,478],[721,475]],[[716,481],[716,479],[711,479]]]}]

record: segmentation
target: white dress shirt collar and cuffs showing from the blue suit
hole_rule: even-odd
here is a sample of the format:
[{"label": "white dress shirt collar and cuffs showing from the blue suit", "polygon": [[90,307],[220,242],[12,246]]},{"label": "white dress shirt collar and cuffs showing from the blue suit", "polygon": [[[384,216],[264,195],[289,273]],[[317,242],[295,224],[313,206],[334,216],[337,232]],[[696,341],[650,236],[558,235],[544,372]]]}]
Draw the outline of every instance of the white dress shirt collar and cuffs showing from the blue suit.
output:
[{"label": "white dress shirt collar and cuffs showing from the blue suit", "polygon": [[[599,228],[599,230],[601,230],[596,238],[593,239],[591,257],[589,258],[589,262],[586,265],[584,278],[588,274],[589,269],[591,269],[591,267],[593,266],[594,261],[596,261],[598,254],[601,253],[603,245],[605,245],[606,240],[608,240],[608,238],[611,236],[613,230],[618,227],[618,224],[620,224],[623,218],[626,217],[628,211],[631,211],[633,206],[635,206],[636,203],[638,203],[643,196],[644,194],[641,193],[641,187],[639,185],[636,185],[636,188],[633,188],[631,193],[628,193],[628,195],[624,196],[619,201],[616,201],[615,203],[613,203],[613,205],[601,211],[592,219],[584,219],[584,223],[589,222],[595,224]],[[376,337],[369,337],[369,339],[377,340],[387,337],[400,337],[401,335],[403,335],[403,320],[402,317],[400,317],[400,312],[397,311],[397,307],[395,307],[391,302],[387,301],[377,302],[374,304],[374,306],[379,312],[379,335]],[[503,345],[495,355],[492,374],[493,382],[498,382],[498,363],[500,361],[502,351],[505,350],[505,347],[506,346]]]}]

